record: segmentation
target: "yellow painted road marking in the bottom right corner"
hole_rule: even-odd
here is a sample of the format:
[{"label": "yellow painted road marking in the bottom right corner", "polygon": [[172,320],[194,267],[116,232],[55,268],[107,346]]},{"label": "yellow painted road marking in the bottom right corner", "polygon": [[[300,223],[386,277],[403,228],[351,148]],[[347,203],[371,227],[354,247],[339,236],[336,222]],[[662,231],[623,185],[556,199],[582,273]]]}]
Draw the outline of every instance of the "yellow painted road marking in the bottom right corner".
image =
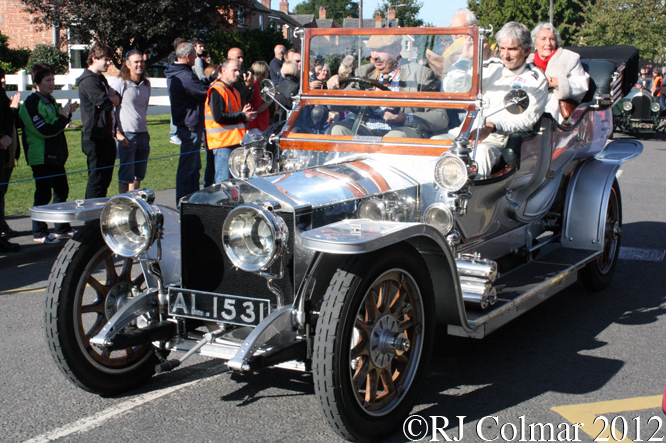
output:
[{"label": "yellow painted road marking in the bottom right corner", "polygon": [[[606,432],[599,435],[604,429],[604,423],[601,420],[594,421],[600,414],[614,414],[618,412],[639,411],[641,409],[654,409],[661,408],[661,395],[653,397],[636,397],[627,398],[624,400],[611,400],[601,401],[598,403],[583,403],[580,405],[556,406],[552,408],[553,411],[560,414],[562,417],[569,420],[571,423],[582,423],[580,429],[585,431],[592,438],[608,437],[611,438],[610,426],[606,428]],[[622,433],[616,430],[616,435]],[[603,440],[600,440],[603,441]],[[616,441],[615,439],[606,441]],[[621,440],[628,443],[633,443],[632,440],[625,438],[622,435]]]}]

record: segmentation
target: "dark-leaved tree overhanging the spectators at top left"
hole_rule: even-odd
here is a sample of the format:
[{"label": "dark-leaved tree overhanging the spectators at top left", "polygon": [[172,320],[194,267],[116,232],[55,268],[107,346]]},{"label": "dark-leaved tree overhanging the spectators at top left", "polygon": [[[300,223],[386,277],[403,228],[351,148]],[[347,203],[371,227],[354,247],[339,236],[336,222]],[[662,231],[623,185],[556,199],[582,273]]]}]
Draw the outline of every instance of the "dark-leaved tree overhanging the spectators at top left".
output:
[{"label": "dark-leaved tree overhanging the spectators at top left", "polygon": [[149,55],[148,64],[173,51],[176,37],[205,36],[229,28],[234,8],[253,0],[21,0],[36,14],[38,26],[69,29],[70,35],[88,43],[92,38],[118,49],[115,65],[131,49]]}]

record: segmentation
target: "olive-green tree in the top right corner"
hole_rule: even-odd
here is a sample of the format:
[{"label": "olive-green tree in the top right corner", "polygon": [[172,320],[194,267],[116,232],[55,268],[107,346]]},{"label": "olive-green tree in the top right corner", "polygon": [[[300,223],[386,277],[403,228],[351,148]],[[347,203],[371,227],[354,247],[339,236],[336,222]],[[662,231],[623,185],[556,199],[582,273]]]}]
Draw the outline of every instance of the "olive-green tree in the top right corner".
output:
[{"label": "olive-green tree in the top right corner", "polygon": [[643,60],[662,61],[666,7],[657,0],[598,0],[584,10],[579,32],[586,46],[632,45]]}]

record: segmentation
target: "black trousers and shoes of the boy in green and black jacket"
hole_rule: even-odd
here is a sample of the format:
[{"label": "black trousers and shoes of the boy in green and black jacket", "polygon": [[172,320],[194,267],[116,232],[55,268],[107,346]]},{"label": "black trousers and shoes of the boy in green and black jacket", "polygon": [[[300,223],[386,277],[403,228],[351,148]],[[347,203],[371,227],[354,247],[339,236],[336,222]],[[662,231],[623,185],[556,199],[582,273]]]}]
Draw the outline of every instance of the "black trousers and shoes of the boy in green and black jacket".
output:
[{"label": "black trousers and shoes of the boy in green and black jacket", "polygon": [[[69,184],[65,175],[64,166],[35,165],[31,166],[32,176],[35,178],[35,201],[34,206],[48,205],[51,202],[53,191],[53,203],[63,203],[69,196]],[[56,223],[56,233],[65,234],[72,227],[69,223]],[[44,222],[32,222],[32,236],[42,238],[49,235],[49,227]]]}]

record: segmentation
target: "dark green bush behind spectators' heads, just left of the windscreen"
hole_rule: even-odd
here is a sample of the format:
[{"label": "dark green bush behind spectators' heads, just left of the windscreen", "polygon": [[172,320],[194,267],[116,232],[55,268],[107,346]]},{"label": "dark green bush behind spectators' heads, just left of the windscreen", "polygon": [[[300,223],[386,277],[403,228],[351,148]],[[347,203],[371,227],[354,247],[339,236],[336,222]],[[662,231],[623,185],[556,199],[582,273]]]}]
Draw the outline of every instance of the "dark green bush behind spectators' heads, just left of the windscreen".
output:
[{"label": "dark green bush behind spectators' heads, just left of the windscreen", "polygon": [[243,68],[248,69],[252,63],[263,60],[266,63],[275,57],[273,48],[284,45],[289,48],[289,40],[276,29],[251,29],[243,32],[228,32],[218,29],[212,36],[206,37],[206,50],[210,53],[213,63],[221,63],[227,58],[231,48],[243,50]]}]

